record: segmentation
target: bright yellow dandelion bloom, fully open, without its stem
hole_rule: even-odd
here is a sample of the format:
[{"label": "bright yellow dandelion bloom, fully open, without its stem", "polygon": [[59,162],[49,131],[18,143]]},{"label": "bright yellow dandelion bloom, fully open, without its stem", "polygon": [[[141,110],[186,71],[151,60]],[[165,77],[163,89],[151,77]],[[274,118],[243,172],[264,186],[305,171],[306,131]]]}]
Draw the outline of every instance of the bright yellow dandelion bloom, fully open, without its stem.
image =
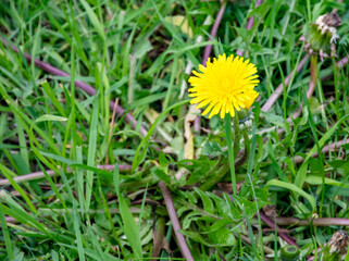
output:
[{"label": "bright yellow dandelion bloom, fully open, without its stem", "polygon": [[226,113],[235,116],[235,110],[240,108],[250,109],[258,97],[253,89],[259,83],[257,69],[249,60],[232,54],[219,55],[219,59],[210,58],[207,66],[199,65],[202,73],[192,71],[195,76],[189,77],[191,88],[188,89],[189,97],[194,98],[190,103],[199,103],[197,108],[208,105],[202,114],[210,113],[210,119],[219,114],[223,119]]}]

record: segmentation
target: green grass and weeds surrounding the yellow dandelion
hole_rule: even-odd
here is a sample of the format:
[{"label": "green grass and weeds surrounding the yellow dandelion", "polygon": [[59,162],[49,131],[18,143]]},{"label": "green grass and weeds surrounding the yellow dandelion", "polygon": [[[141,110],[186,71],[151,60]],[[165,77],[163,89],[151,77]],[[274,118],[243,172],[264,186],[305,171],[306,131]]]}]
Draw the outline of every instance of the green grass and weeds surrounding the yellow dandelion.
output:
[{"label": "green grass and weeds surrounding the yellow dandelion", "polygon": [[[286,244],[321,260],[349,225],[349,70],[336,65],[349,4],[254,2],[0,3],[18,49],[0,44],[1,260],[283,260]],[[300,36],[333,9],[338,58],[303,62]],[[197,117],[187,97],[209,45],[244,52],[261,80],[230,148],[234,196],[224,121]]]}]

